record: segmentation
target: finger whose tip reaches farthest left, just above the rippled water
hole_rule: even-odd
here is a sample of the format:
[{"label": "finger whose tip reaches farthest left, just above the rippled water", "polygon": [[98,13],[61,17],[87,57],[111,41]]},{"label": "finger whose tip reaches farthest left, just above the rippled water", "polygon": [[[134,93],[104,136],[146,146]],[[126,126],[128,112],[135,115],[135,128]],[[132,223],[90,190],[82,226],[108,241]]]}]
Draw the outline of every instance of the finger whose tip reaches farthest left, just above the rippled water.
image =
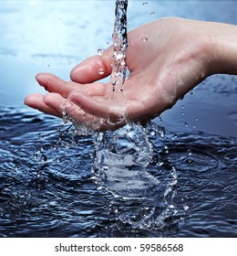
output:
[{"label": "finger whose tip reaches farthest left, just above the rippled water", "polygon": [[58,112],[55,112],[53,109],[51,109],[44,103],[43,98],[44,98],[44,95],[42,94],[39,94],[39,93],[31,94],[26,97],[24,103],[27,106],[33,109],[36,109],[40,112],[45,112],[45,113],[60,117],[61,115],[58,114]]}]

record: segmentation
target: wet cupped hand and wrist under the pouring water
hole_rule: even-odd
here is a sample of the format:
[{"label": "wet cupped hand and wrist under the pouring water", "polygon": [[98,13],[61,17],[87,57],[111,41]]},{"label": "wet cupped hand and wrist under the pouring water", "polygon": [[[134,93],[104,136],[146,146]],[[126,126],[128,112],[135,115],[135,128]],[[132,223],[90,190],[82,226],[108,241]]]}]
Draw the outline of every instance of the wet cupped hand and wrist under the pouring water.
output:
[{"label": "wet cupped hand and wrist under the pouring water", "polygon": [[74,123],[99,131],[115,130],[128,122],[145,123],[211,74],[236,75],[236,35],[233,25],[163,18],[129,32],[129,78],[123,93],[99,81],[111,73],[110,47],[78,64],[69,81],[37,74],[37,82],[48,93],[31,94],[25,103],[57,117],[66,110]]}]

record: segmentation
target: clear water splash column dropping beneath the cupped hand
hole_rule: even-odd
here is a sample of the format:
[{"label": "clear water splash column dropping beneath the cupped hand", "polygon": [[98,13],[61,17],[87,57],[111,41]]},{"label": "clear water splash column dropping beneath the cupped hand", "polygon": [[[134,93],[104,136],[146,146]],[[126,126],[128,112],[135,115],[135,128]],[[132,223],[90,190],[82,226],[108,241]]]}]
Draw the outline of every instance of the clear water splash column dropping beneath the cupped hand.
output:
[{"label": "clear water splash column dropping beneath the cupped hand", "polygon": [[116,196],[146,197],[146,190],[160,182],[146,172],[152,157],[146,129],[128,123],[116,132],[96,136],[96,181]]}]

